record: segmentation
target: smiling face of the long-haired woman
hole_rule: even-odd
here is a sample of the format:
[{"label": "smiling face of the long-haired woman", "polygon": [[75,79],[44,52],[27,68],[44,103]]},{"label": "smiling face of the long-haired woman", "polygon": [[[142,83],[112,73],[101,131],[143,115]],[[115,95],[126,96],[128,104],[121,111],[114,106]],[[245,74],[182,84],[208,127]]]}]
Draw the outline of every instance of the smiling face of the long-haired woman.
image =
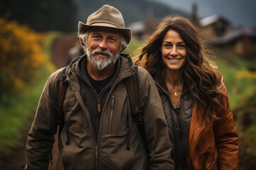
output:
[{"label": "smiling face of the long-haired woman", "polygon": [[186,44],[175,30],[168,30],[161,43],[161,55],[166,67],[179,70],[186,62]]}]

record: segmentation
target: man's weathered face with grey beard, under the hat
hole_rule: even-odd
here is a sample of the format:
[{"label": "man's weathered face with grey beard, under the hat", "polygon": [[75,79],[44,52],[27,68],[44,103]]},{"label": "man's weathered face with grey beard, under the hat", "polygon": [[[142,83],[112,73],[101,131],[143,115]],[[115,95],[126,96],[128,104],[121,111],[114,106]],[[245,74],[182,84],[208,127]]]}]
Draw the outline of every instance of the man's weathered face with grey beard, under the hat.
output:
[{"label": "man's weathered face with grey beard, under the hat", "polygon": [[121,33],[114,28],[93,28],[87,36],[87,57],[98,70],[114,64],[119,57]]}]

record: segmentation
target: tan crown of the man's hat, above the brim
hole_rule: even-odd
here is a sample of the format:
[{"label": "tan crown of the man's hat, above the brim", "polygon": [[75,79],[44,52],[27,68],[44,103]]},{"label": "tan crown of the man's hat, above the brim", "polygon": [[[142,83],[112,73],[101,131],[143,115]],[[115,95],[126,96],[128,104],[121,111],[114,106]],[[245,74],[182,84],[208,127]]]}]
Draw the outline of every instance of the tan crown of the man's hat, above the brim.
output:
[{"label": "tan crown of the man's hat, above the brim", "polygon": [[102,23],[110,24],[114,28],[125,28],[124,18],[122,13],[120,13],[117,8],[113,6],[104,5],[95,13],[92,13],[87,18],[87,25],[97,26],[97,24],[102,25]]}]

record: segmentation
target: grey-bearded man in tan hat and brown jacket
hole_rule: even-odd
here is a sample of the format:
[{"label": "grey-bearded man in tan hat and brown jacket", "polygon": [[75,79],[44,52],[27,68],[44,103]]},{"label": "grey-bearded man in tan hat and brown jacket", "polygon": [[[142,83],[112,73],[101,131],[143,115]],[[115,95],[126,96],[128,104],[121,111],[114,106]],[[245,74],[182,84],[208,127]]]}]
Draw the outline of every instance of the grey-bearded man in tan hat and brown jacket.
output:
[{"label": "grey-bearded man in tan hat and brown jacket", "polygon": [[[131,116],[124,79],[134,74],[132,59],[122,52],[132,38],[122,14],[102,6],[78,23],[85,55],[69,64],[63,103],[56,169],[173,169],[171,142],[158,91],[149,73],[138,68],[146,152],[142,135]],[[48,169],[58,129],[58,84],[63,69],[53,73],[43,89],[28,132],[27,169]]]}]

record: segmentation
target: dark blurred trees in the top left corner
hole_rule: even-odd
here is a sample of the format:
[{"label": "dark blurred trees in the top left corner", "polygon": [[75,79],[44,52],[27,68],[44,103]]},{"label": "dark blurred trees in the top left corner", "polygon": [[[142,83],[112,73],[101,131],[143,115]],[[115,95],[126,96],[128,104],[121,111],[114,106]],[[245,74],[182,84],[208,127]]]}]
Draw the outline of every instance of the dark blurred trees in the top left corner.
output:
[{"label": "dark blurred trees in the top left corner", "polygon": [[3,0],[0,3],[0,17],[27,24],[36,31],[73,32],[78,23],[76,11],[72,0]]}]

